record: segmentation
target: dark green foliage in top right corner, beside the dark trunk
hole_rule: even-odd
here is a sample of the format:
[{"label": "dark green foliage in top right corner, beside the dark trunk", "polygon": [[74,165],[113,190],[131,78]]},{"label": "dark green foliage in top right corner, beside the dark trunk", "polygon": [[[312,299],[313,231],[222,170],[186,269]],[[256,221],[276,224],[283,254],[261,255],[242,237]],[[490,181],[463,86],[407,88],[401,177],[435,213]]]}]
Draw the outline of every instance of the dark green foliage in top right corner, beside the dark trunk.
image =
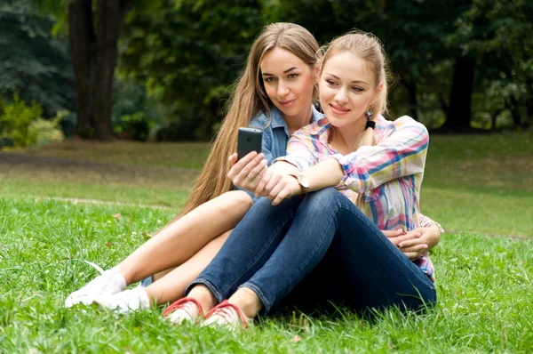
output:
[{"label": "dark green foliage in top right corner, beside the dark trunk", "polygon": [[514,125],[525,124],[518,112],[525,105],[533,122],[531,19],[533,4],[527,0],[473,0],[449,36],[451,45],[478,61],[478,92],[483,96],[478,109],[494,122],[509,109]]}]

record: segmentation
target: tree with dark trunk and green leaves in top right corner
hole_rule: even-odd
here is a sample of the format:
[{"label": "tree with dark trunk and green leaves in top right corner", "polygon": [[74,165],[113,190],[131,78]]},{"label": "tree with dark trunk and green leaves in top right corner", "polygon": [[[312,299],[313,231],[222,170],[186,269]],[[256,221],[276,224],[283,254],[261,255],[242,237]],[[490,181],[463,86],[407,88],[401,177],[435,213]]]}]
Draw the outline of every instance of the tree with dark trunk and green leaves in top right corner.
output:
[{"label": "tree with dark trunk and green leaves in top right corner", "polygon": [[[494,125],[497,115],[504,110],[510,111],[515,126],[522,125],[520,108],[527,107],[533,97],[531,19],[533,4],[527,0],[473,0],[457,18],[457,29],[449,39],[450,44],[461,51],[456,75],[463,84],[457,84],[452,90],[451,98],[455,97],[455,102],[459,103],[452,106],[453,101],[450,101],[445,128],[463,130],[470,127],[465,124],[465,111],[470,105],[465,97],[471,97],[466,91],[472,93],[475,89],[484,93],[481,95],[484,100],[500,103],[500,107],[492,107],[493,112],[489,113]],[[475,80],[474,61],[479,76]],[[497,92],[495,84],[499,86]]]}]

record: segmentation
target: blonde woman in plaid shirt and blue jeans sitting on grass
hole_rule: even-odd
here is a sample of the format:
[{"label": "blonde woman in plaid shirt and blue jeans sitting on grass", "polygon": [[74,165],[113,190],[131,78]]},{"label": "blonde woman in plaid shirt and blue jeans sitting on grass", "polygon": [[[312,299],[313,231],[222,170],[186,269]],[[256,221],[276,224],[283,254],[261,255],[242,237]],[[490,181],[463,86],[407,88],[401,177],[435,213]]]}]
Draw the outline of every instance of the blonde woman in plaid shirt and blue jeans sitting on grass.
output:
[{"label": "blonde woman in plaid shirt and blue jeans sitting on grass", "polygon": [[381,116],[387,82],[378,39],[355,32],[332,41],[319,92],[327,118],[296,132],[288,155],[248,186],[268,199],[252,206],[187,297],[167,309],[175,322],[249,326],[306,276],[298,297],[315,305],[364,312],[436,302],[427,253],[411,261],[380,231],[418,227],[428,134],[410,117]]}]

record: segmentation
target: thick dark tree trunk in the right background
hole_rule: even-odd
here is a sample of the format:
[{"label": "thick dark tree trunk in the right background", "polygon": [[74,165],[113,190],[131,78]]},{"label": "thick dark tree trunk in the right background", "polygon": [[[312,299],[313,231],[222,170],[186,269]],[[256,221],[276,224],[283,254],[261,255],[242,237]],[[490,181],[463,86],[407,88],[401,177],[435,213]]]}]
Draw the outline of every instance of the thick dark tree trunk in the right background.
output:
[{"label": "thick dark tree trunk in the right background", "polygon": [[475,62],[466,57],[456,59],[453,83],[449,94],[449,109],[442,130],[470,131],[472,119],[473,72]]}]

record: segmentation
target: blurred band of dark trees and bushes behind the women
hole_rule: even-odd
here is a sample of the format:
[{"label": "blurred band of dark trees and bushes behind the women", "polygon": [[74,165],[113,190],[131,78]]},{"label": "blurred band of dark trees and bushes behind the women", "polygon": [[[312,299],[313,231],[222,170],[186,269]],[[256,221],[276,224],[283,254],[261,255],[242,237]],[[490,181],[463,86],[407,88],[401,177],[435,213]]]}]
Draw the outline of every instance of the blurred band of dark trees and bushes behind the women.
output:
[{"label": "blurred band of dark trees and bushes behind the women", "polygon": [[377,35],[391,117],[444,133],[533,125],[529,0],[18,0],[0,4],[0,147],[210,141],[262,26]]}]

